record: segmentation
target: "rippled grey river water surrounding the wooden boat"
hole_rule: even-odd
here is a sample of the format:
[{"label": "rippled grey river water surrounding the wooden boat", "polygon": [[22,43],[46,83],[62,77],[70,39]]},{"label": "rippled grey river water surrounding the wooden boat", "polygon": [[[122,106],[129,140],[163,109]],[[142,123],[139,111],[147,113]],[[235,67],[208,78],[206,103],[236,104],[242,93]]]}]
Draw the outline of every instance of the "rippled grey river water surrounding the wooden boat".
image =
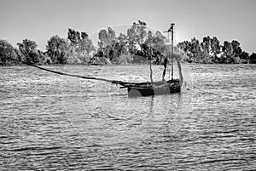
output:
[{"label": "rippled grey river water surrounding the wooden boat", "polygon": [[[44,67],[149,80],[148,66]],[[0,170],[253,170],[255,71],[183,65],[180,94],[128,98],[111,83],[0,67]]]}]

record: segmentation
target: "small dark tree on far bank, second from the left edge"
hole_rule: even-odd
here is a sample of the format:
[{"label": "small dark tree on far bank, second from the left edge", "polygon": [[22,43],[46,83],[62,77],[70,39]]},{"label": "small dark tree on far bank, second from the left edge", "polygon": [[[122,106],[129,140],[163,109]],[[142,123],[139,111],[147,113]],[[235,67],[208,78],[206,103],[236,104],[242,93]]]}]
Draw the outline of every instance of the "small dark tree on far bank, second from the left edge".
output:
[{"label": "small dark tree on far bank, second from the left edge", "polygon": [[24,39],[22,43],[17,43],[20,53],[22,54],[22,58],[26,60],[26,62],[38,64],[40,61],[38,55],[38,44],[35,41]]}]

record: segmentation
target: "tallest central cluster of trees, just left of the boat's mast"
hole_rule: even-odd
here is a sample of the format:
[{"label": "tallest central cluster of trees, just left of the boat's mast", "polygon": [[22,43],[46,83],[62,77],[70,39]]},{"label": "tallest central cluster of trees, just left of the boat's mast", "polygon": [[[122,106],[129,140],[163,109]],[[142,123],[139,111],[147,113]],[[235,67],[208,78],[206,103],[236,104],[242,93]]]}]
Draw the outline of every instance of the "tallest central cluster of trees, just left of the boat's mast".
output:
[{"label": "tallest central cluster of trees, just left of the boat's mast", "polygon": [[[127,35],[120,33],[116,37],[115,31],[111,27],[107,30],[99,31],[99,42],[96,57],[104,57],[110,61],[126,63],[125,59],[131,61],[132,55],[140,55],[148,58],[148,49],[154,63],[159,64],[167,54],[167,39],[160,31],[153,33],[147,31],[147,24],[141,20],[134,22],[128,28]],[[146,48],[147,47],[147,48]],[[151,57],[150,56],[150,57]],[[121,58],[122,60],[120,60]]]}]

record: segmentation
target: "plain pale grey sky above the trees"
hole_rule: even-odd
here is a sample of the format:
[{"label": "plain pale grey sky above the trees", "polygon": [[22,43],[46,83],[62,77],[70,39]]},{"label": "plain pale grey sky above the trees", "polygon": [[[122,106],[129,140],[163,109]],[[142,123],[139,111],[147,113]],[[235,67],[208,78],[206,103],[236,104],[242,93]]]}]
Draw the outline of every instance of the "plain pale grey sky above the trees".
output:
[{"label": "plain pale grey sky above the trees", "polygon": [[118,31],[143,20],[158,31],[175,23],[176,43],[217,37],[221,44],[237,40],[252,54],[255,9],[255,0],[0,0],[0,39],[16,47],[27,38],[44,51],[50,37],[67,38],[68,28],[92,38],[107,26]]}]

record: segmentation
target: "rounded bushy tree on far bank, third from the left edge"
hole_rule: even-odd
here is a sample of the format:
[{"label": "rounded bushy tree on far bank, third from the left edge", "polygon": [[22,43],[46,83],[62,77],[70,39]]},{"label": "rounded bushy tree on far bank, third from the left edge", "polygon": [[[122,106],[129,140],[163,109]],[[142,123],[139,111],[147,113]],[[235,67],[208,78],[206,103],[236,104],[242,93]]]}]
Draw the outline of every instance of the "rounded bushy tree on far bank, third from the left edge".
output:
[{"label": "rounded bushy tree on far bank, third from the left edge", "polygon": [[46,45],[47,54],[55,64],[65,64],[67,61],[67,40],[57,35],[50,37]]}]

